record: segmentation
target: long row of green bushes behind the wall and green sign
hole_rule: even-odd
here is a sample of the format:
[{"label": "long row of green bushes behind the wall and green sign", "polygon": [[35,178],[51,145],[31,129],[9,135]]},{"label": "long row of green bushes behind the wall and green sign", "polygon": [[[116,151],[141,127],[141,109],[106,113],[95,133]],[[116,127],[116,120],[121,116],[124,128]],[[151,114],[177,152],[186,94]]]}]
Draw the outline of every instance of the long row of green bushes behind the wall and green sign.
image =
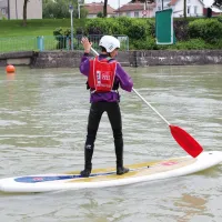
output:
[{"label": "long row of green bushes behind the wall and green sign", "polygon": [[[84,27],[81,26],[74,30],[77,34],[80,34],[77,37],[75,43],[78,49],[81,48],[80,40],[82,36],[93,34],[128,36],[130,49],[134,50],[222,49],[222,17],[212,19],[192,18],[191,20],[175,19],[176,44],[173,46],[157,46],[154,19],[128,17],[88,19]],[[58,40],[58,49],[65,48],[69,41],[64,41],[64,39],[70,38],[70,29],[59,28],[54,30],[53,34]],[[97,48],[99,39],[95,41],[92,37],[91,41],[93,41],[93,47]],[[122,43],[122,46],[124,44]]]}]

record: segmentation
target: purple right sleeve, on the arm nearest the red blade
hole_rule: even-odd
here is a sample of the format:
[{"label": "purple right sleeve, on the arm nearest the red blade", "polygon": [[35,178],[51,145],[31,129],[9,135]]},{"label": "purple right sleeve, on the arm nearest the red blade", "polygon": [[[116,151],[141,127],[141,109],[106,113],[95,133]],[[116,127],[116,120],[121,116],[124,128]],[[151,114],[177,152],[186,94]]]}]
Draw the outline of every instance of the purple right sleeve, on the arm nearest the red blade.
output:
[{"label": "purple right sleeve, on the arm nearest the red blade", "polygon": [[123,90],[131,92],[132,87],[133,87],[133,81],[132,81],[131,77],[122,69],[120,63],[117,63],[115,74],[120,82],[120,87]]}]

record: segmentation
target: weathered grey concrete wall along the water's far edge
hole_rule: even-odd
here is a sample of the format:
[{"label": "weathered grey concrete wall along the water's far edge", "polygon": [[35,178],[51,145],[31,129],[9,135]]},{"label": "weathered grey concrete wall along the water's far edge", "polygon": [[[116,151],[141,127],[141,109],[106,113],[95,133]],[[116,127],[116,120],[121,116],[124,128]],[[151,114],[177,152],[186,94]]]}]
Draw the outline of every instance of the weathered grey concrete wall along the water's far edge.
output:
[{"label": "weathered grey concrete wall along the water's far edge", "polygon": [[[31,68],[78,68],[82,51],[44,51],[0,53],[0,67],[9,63]],[[222,64],[222,50],[125,51],[119,52],[123,67]]]}]

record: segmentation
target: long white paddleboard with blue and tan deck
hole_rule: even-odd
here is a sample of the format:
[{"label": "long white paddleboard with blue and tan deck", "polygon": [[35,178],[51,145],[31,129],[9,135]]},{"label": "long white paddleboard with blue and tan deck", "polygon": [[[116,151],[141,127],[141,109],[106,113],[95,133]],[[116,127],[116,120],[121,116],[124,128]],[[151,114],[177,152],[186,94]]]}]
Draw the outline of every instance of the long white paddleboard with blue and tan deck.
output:
[{"label": "long white paddleboard with blue and tan deck", "polygon": [[93,170],[89,178],[77,172],[24,175],[0,179],[0,191],[30,193],[59,190],[105,188],[163,180],[206,170],[222,162],[222,152],[202,152],[198,158],[190,155],[155,162],[128,165],[130,172],[117,175],[115,169]]}]

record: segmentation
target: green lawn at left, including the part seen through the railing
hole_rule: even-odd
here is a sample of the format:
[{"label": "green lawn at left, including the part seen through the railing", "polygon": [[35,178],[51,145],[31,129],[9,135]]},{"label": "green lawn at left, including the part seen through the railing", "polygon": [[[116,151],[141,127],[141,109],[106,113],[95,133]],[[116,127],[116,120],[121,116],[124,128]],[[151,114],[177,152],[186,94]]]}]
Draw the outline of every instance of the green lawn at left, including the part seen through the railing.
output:
[{"label": "green lawn at left, including the part seen through the railing", "polygon": [[[84,27],[84,23],[85,19],[73,19],[73,29]],[[46,50],[54,50],[57,48],[54,29],[60,27],[65,29],[70,26],[70,19],[28,20],[27,27],[22,26],[22,20],[0,20],[0,52],[38,50],[39,36],[46,37]]]}]

